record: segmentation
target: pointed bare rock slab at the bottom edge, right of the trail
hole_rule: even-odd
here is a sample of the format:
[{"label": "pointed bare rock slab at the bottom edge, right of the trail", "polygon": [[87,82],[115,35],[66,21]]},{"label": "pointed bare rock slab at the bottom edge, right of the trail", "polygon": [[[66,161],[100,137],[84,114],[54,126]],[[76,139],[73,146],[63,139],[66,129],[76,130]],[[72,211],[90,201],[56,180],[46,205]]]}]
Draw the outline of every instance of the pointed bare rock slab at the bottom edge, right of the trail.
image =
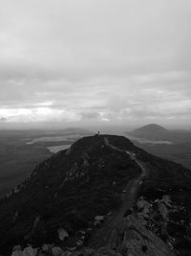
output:
[{"label": "pointed bare rock slab at the bottom edge, right of the trail", "polygon": [[93,256],[174,256],[171,248],[148,230],[135,214],[120,222],[111,233],[112,244],[83,255]]}]

